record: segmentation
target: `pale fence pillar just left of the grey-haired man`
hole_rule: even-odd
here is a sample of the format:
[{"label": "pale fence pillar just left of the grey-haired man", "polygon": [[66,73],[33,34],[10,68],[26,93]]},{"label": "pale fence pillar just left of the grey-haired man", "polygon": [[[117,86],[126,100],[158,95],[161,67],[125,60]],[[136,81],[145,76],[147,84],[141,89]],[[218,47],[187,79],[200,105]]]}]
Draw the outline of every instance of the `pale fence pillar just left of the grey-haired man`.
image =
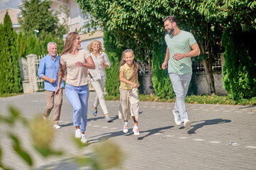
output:
[{"label": "pale fence pillar just left of the grey-haired man", "polygon": [[28,79],[29,79],[29,86],[31,92],[38,91],[38,84],[36,82],[37,74],[36,74],[36,68],[35,68],[35,60],[36,55],[30,54],[27,55],[28,60]]}]

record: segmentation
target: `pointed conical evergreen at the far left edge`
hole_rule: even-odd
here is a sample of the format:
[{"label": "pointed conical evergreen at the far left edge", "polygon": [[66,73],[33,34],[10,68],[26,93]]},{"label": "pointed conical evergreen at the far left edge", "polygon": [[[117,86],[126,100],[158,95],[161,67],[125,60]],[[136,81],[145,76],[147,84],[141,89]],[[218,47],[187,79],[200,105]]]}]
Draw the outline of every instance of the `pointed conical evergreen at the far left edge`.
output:
[{"label": "pointed conical evergreen at the far left edge", "polygon": [[1,26],[0,53],[0,94],[13,94],[22,91],[21,72],[18,67],[18,52],[16,50],[17,35],[12,28],[11,18],[6,12],[4,26]]}]

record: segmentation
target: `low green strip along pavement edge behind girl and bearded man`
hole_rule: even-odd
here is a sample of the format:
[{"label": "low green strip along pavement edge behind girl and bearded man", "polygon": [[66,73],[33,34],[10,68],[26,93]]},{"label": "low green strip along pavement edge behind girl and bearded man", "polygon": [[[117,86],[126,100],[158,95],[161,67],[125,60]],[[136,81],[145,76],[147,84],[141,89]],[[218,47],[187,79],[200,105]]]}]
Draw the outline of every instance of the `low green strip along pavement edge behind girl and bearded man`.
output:
[{"label": "low green strip along pavement edge behind girl and bearded man", "polygon": [[[152,102],[167,102],[173,103],[175,102],[175,98],[160,98],[155,95],[148,94],[139,94],[138,97],[140,101],[152,101]],[[105,95],[106,101],[118,101],[119,96],[109,96]],[[256,97],[254,98],[245,98],[239,101],[234,101],[233,99],[228,98],[228,96],[187,96],[185,99],[185,103],[193,103],[193,104],[221,104],[221,105],[243,105],[243,106],[255,106],[256,105]]]}]

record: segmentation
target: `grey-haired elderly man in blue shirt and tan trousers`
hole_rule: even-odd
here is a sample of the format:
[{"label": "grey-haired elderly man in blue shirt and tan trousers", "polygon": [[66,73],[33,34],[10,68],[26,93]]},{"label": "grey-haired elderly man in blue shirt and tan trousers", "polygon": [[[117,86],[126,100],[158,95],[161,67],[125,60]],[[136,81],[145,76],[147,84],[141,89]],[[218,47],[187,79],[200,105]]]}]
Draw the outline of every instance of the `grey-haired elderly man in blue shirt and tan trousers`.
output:
[{"label": "grey-haired elderly man in blue shirt and tan trousers", "polygon": [[40,60],[38,68],[38,77],[44,80],[45,84],[45,96],[46,96],[46,106],[43,113],[43,118],[47,119],[55,105],[53,114],[53,128],[60,129],[58,125],[60,120],[60,111],[62,106],[62,96],[63,96],[63,81],[60,84],[59,94],[55,95],[55,89],[57,87],[58,72],[60,69],[60,57],[57,54],[57,44],[55,42],[48,43],[48,55]]}]

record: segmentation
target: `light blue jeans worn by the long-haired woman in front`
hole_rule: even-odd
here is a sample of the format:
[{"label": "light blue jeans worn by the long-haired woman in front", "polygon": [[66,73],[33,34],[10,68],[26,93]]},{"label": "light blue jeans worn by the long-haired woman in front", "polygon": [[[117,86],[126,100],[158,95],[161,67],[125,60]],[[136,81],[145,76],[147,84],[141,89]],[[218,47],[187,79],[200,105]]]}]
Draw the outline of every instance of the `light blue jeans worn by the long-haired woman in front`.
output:
[{"label": "light blue jeans worn by the long-haired woman in front", "polygon": [[72,86],[70,84],[66,84],[65,94],[73,106],[73,124],[74,126],[80,126],[81,132],[84,132],[87,128],[89,99],[88,84],[85,86]]}]

